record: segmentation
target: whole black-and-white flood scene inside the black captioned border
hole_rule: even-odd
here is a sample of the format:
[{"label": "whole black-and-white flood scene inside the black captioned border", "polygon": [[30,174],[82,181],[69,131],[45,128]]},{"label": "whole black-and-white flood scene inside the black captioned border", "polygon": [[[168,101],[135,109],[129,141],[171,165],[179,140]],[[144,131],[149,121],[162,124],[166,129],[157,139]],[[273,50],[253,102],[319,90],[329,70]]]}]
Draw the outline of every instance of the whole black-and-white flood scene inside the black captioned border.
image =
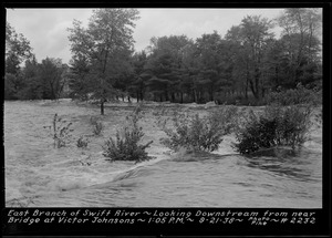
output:
[{"label": "whole black-and-white flood scene inside the black captioned border", "polygon": [[322,12],[6,9],[6,207],[321,209]]}]

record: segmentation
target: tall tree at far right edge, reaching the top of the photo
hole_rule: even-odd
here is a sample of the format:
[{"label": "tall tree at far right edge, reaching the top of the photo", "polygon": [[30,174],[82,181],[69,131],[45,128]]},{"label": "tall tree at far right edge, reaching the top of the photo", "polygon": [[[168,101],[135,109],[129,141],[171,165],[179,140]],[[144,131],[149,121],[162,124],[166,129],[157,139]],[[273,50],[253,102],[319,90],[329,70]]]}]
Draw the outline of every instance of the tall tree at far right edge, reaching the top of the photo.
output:
[{"label": "tall tree at far right edge, reaching the top of the photo", "polygon": [[277,19],[283,29],[280,42],[283,45],[284,76],[287,87],[295,87],[321,81],[321,27],[319,9],[286,9]]}]

